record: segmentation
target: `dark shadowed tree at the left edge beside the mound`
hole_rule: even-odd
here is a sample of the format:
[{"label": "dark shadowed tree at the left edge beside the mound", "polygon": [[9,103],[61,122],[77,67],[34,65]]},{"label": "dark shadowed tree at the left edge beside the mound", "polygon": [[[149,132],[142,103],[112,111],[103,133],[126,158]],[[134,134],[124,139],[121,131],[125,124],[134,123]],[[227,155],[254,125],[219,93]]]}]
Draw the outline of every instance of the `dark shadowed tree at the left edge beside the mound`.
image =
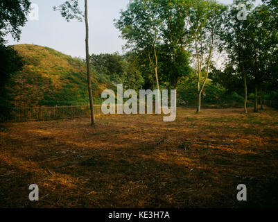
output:
[{"label": "dark shadowed tree at the left edge beside the mound", "polygon": [[19,40],[20,28],[27,22],[30,5],[27,0],[2,0],[0,3],[0,120],[9,117],[11,108],[6,83],[23,67],[17,51],[4,45],[4,37],[10,33],[15,40]]}]

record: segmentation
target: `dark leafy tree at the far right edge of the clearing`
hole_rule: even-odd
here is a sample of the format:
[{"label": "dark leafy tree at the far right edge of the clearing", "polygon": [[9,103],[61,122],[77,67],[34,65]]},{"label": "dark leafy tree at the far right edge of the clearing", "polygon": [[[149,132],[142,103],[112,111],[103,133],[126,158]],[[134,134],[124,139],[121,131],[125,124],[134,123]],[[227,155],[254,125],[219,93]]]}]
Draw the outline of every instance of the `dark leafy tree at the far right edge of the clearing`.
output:
[{"label": "dark leafy tree at the far right edge of the clearing", "polygon": [[247,29],[250,34],[247,35],[249,42],[247,50],[250,52],[248,65],[254,89],[254,112],[258,112],[258,89],[261,89],[261,109],[263,109],[263,85],[272,78],[272,75],[275,75],[271,70],[277,63],[277,56],[275,56],[278,46],[276,17],[270,3],[265,3],[254,8],[248,19],[250,24]]}]

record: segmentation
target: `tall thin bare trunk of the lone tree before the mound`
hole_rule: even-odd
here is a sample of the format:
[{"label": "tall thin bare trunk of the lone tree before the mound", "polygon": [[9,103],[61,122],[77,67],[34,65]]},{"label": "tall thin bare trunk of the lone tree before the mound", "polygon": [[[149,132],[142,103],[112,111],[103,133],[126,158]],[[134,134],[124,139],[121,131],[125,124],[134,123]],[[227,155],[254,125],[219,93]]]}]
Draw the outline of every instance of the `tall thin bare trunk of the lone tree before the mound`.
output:
[{"label": "tall thin bare trunk of the lone tree before the mound", "polygon": [[94,117],[94,100],[92,93],[92,83],[89,68],[89,22],[88,22],[88,0],[85,0],[85,24],[86,24],[86,63],[87,63],[87,82],[88,82],[88,92],[89,92],[89,105],[91,108],[91,124],[92,126],[96,123]]}]

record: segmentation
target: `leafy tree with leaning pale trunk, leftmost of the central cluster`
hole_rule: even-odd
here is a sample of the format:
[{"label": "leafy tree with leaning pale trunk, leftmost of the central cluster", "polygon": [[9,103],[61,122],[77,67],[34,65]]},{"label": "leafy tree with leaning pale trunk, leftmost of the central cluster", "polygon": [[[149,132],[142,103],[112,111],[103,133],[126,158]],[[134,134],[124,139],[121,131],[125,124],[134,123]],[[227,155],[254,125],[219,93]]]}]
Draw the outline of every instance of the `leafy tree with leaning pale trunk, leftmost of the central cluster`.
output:
[{"label": "leafy tree with leaning pale trunk, leftmost of the central cluster", "polygon": [[123,39],[128,41],[126,48],[147,54],[159,89],[157,45],[161,40],[162,18],[159,16],[158,1],[130,1],[128,9],[121,11],[121,17],[115,22],[115,26],[121,31]]}]

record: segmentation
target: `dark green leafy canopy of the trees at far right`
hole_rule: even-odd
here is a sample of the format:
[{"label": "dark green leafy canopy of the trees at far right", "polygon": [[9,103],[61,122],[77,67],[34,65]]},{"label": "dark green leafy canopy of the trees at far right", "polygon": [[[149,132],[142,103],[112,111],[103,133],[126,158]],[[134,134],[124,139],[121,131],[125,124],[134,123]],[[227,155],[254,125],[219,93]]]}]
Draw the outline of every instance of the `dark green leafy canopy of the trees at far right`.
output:
[{"label": "dark green leafy canopy of the trees at far right", "polygon": [[[237,19],[236,4],[230,5],[225,15],[225,26],[220,36],[223,40],[221,49],[227,53],[228,60],[223,71],[214,69],[211,76],[214,82],[230,92],[244,94],[244,79],[247,92],[254,92],[254,89],[256,93],[257,89],[268,92],[278,85],[277,6],[273,4],[275,1],[264,2],[254,7],[253,1],[243,1],[249,10],[246,20]],[[256,96],[248,98],[255,99]]]}]

